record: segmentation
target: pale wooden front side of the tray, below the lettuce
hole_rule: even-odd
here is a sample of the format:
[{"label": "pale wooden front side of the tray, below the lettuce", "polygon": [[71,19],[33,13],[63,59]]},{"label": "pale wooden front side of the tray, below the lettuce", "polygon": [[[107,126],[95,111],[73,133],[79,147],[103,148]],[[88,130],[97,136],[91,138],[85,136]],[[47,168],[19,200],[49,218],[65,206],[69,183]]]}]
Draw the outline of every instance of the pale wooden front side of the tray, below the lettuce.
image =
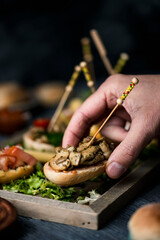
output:
[{"label": "pale wooden front side of the tray, below the lettuce", "polygon": [[38,218],[78,227],[97,229],[97,214],[86,205],[62,202],[0,190],[0,196],[10,201],[21,216]]}]

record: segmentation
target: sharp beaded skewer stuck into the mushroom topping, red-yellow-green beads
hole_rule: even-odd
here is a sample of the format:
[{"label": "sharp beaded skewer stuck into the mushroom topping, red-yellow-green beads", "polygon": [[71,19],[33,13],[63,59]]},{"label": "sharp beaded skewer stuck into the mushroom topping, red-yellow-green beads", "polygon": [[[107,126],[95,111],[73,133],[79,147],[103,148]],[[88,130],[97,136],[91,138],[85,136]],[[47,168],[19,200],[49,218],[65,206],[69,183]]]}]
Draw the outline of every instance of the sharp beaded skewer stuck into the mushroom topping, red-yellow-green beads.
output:
[{"label": "sharp beaded skewer stuck into the mushroom topping, red-yellow-green beads", "polygon": [[94,134],[94,136],[92,137],[92,139],[90,140],[90,142],[88,143],[87,147],[90,146],[93,142],[93,140],[96,138],[97,134],[101,131],[101,129],[103,128],[103,126],[106,124],[106,122],[109,120],[109,118],[112,116],[112,114],[115,112],[115,110],[118,108],[119,105],[123,104],[123,101],[126,99],[126,97],[128,96],[128,94],[131,92],[131,90],[134,88],[134,86],[136,84],[138,84],[139,80],[137,78],[133,78],[129,87],[125,90],[125,92],[122,94],[121,98],[117,99],[117,105],[113,108],[113,110],[111,111],[111,113],[109,114],[109,116],[104,120],[104,122],[102,123],[102,125],[99,127],[99,129],[97,130],[97,132]]}]

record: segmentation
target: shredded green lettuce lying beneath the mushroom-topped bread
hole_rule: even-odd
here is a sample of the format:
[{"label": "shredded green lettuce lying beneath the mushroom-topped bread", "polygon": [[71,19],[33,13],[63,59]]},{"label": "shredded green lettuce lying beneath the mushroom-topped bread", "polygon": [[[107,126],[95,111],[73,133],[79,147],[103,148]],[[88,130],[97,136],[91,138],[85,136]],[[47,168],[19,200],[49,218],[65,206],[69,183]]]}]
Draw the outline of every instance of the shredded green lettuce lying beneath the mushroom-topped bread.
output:
[{"label": "shredded green lettuce lying beneath the mushroom-topped bread", "polygon": [[[81,184],[80,184],[81,185]],[[27,178],[11,181],[9,184],[2,186],[3,190],[23,193],[27,195],[38,195],[41,197],[51,198],[55,200],[91,203],[97,199],[100,194],[93,191],[85,191],[81,186],[62,188],[45,178],[42,171],[42,165],[37,164],[36,170]],[[80,200],[83,200],[80,202]]]}]

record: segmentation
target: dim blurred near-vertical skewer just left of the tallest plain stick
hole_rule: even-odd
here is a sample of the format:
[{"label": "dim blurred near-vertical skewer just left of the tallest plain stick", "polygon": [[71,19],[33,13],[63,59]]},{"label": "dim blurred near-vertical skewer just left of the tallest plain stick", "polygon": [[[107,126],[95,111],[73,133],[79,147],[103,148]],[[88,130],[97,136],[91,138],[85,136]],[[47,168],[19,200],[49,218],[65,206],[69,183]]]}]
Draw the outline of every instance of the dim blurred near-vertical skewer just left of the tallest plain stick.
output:
[{"label": "dim blurred near-vertical skewer just left of the tallest plain stick", "polygon": [[90,39],[87,37],[84,37],[81,39],[82,44],[82,52],[83,52],[83,59],[87,63],[89,72],[91,73],[91,78],[95,82],[95,70],[94,70],[94,64],[93,64],[93,55],[91,51],[91,45],[90,45]]}]

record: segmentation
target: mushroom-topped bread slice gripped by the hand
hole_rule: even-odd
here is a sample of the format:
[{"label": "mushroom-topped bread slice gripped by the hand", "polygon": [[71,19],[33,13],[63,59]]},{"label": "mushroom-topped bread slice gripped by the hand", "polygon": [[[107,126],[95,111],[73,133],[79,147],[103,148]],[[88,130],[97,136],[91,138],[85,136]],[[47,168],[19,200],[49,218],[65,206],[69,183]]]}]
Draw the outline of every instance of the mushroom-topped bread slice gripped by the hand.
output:
[{"label": "mushroom-topped bread slice gripped by the hand", "polygon": [[77,147],[56,148],[52,159],[44,165],[45,176],[55,184],[70,186],[104,173],[114,144],[101,137],[88,146],[91,138],[84,138]]}]

